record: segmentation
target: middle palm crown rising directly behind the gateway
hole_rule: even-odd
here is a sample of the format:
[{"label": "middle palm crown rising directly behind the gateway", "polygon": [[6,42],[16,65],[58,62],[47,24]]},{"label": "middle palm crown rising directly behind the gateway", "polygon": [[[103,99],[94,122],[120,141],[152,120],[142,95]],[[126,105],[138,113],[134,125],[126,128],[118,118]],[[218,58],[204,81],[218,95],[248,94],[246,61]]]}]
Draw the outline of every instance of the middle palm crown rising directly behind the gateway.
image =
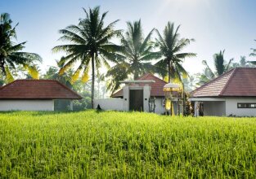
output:
[{"label": "middle palm crown rising directly behind the gateway", "polygon": [[119,88],[119,81],[124,81],[128,76],[136,80],[146,72],[152,71],[153,66],[150,61],[156,59],[157,53],[154,53],[153,44],[150,42],[150,36],[154,29],[143,37],[141,20],[133,23],[128,22],[128,30],[121,37],[122,50],[119,51],[119,60],[113,68],[107,72],[107,76],[112,76],[108,85],[111,92]]}]

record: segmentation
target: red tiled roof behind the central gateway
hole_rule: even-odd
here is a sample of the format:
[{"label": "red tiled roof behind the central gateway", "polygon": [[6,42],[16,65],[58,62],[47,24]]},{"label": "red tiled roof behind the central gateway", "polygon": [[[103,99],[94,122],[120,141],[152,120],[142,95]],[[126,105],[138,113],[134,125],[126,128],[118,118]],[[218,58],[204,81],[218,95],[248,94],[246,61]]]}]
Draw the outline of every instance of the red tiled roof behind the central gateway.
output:
[{"label": "red tiled roof behind the central gateway", "polygon": [[[141,76],[140,78],[137,79],[137,81],[155,81],[155,83],[150,83],[148,85],[151,86],[151,91],[150,91],[150,96],[155,96],[155,97],[163,97],[164,96],[164,85],[167,83],[158,77],[154,76],[151,73],[147,73],[144,76]],[[140,86],[143,86],[145,84],[139,84]],[[123,97],[123,89],[120,89],[117,91],[115,94],[112,94],[112,98],[119,98]]]}]

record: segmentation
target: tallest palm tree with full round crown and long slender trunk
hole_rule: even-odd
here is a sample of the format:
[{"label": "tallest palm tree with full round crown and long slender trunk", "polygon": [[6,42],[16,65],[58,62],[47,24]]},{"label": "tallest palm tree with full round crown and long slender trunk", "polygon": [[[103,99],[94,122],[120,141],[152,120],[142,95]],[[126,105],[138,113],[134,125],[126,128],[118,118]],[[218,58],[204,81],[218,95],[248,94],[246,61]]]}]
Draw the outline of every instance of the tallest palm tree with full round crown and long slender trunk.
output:
[{"label": "tallest palm tree with full round crown and long slender trunk", "polygon": [[69,41],[70,44],[55,46],[53,51],[65,51],[67,54],[61,59],[61,63],[65,65],[61,68],[60,74],[75,63],[79,63],[79,67],[72,76],[73,81],[79,78],[81,72],[83,81],[88,81],[88,72],[92,68],[91,103],[93,107],[95,67],[99,69],[102,64],[109,67],[107,60],[115,62],[115,51],[119,50],[119,46],[111,43],[110,39],[118,35],[120,31],[113,29],[118,20],[104,26],[107,12],[100,15],[100,7],[89,8],[89,11],[83,9],[83,11],[86,16],[79,20],[78,25],[70,25],[59,31],[62,34],[60,39]]}]

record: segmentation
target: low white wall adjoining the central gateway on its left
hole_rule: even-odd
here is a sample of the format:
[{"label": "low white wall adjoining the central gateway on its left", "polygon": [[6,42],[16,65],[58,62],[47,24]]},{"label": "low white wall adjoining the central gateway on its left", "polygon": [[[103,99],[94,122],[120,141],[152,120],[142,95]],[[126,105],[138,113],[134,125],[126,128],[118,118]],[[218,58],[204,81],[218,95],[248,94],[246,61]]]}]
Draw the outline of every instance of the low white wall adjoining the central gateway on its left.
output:
[{"label": "low white wall adjoining the central gateway on its left", "polygon": [[94,108],[100,105],[103,110],[124,111],[123,98],[100,98],[94,100]]}]

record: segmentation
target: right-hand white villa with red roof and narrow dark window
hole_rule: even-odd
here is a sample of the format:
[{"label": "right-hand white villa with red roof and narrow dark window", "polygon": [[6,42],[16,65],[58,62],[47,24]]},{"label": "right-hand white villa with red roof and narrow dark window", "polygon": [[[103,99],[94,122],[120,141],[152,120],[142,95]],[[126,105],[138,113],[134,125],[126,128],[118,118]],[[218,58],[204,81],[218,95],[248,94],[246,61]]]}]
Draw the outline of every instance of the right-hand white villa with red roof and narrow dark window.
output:
[{"label": "right-hand white villa with red roof and narrow dark window", "polygon": [[234,68],[191,92],[195,116],[256,116],[256,68]]}]

